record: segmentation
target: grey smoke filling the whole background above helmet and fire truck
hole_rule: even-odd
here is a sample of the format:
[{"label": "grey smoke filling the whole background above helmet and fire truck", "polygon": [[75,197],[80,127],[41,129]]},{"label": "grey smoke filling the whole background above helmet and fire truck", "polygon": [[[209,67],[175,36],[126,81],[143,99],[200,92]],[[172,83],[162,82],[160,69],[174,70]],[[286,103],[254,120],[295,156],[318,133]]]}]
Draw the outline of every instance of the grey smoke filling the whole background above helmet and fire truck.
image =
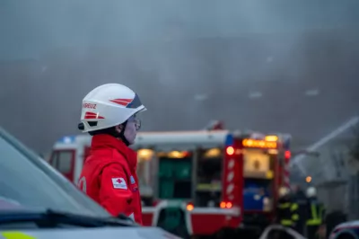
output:
[{"label": "grey smoke filling the whole background above helmet and fire truck", "polygon": [[[78,133],[83,96],[115,82],[141,95],[147,130],[220,119],[305,145],[356,112],[358,10],[335,0],[2,0],[0,123],[48,150]],[[311,88],[328,94],[303,100]]]}]

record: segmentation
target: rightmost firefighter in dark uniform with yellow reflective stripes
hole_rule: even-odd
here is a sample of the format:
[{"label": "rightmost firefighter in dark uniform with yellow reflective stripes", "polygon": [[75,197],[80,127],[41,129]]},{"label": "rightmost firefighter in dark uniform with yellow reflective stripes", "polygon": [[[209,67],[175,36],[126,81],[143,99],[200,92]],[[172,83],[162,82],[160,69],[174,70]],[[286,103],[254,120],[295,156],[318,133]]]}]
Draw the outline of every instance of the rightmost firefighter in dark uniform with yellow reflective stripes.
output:
[{"label": "rightmost firefighter in dark uniform with yellow reflective stripes", "polygon": [[306,231],[309,239],[318,238],[318,231],[322,225],[324,218],[324,206],[317,199],[317,190],[309,187],[306,191],[307,195],[307,218]]}]

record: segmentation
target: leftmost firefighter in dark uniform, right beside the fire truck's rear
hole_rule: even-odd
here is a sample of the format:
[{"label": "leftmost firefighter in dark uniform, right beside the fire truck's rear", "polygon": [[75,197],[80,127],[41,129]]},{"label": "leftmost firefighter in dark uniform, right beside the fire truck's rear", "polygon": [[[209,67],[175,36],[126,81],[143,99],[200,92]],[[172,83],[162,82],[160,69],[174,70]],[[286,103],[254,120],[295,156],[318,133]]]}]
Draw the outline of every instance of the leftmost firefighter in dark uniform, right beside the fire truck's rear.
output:
[{"label": "leftmost firefighter in dark uniform, right beside the fire truck's rear", "polygon": [[299,220],[299,206],[293,201],[290,190],[286,187],[279,189],[279,199],[276,207],[276,222],[282,226],[295,228]]}]

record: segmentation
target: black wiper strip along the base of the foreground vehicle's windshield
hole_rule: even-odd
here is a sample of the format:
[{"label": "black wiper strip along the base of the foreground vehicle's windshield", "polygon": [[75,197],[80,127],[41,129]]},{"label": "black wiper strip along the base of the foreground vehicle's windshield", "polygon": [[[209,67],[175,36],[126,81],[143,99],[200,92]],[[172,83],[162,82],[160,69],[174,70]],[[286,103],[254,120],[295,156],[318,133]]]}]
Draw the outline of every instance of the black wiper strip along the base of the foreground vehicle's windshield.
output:
[{"label": "black wiper strip along the base of the foreground vehicle's windshield", "polygon": [[53,228],[59,225],[80,227],[101,226],[138,226],[125,217],[90,217],[47,209],[41,212],[6,211],[0,213],[0,225],[33,222],[41,228]]}]

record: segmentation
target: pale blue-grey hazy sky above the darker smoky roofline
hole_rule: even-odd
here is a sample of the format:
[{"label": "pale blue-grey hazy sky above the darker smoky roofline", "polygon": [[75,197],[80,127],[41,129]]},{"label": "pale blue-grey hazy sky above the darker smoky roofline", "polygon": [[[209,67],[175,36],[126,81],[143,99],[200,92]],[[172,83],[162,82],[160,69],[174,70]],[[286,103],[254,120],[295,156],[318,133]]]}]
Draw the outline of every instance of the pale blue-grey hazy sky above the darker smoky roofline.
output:
[{"label": "pale blue-grey hazy sky above the darker smoky roofline", "polygon": [[[74,46],[320,29],[358,23],[357,1],[2,0],[0,58]],[[124,43],[126,42],[126,43]]]}]

